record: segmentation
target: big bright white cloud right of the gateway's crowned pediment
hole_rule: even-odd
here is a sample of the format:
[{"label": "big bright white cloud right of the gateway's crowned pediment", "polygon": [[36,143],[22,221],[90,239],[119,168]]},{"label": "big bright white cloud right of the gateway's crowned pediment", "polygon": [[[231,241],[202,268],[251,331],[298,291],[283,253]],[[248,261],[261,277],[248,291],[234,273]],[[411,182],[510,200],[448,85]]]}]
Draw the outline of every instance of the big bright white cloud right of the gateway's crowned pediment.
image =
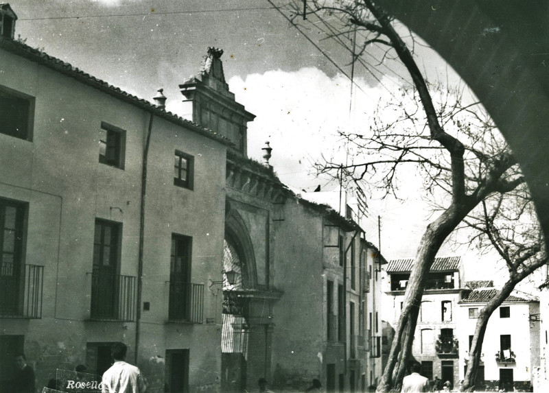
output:
[{"label": "big bright white cloud right of the gateway's crowned pediment", "polygon": [[344,160],[338,131],[367,126],[377,99],[386,94],[365,80],[355,83],[362,91],[354,86],[351,96],[346,77],[330,78],[314,67],[231,78],[229,86],[237,102],[257,115],[248,123],[248,156],[261,160],[261,147],[270,141],[270,164],[281,179],[298,188],[316,187],[318,179],[307,176],[311,164],[322,156]]}]

